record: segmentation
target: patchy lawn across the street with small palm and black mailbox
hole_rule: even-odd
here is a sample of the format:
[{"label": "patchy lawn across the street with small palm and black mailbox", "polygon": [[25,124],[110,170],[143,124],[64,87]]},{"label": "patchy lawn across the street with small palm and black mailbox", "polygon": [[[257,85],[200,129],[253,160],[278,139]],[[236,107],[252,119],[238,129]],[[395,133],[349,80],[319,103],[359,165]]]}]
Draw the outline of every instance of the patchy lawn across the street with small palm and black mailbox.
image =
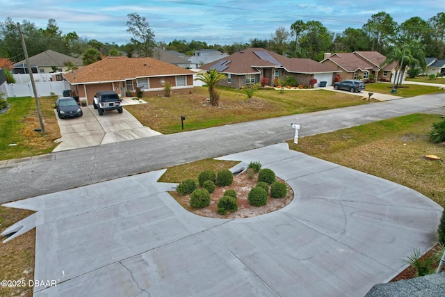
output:
[{"label": "patchy lawn across the street with small palm and black mailbox", "polygon": [[284,90],[284,93],[273,89],[257,90],[252,99],[247,99],[242,90],[218,90],[220,106],[209,106],[207,88],[195,87],[193,94],[144,97],[147,104],[126,106],[125,109],[143,125],[171,134],[181,131],[181,115],[186,117],[184,130],[188,131],[369,103],[355,95],[327,90]]}]

